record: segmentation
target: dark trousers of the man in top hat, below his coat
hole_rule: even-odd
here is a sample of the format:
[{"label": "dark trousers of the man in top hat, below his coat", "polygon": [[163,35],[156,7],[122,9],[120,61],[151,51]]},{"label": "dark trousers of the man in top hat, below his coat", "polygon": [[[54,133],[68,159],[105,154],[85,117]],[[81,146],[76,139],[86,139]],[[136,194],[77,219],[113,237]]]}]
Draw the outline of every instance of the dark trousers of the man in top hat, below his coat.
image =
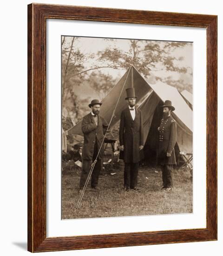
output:
[{"label": "dark trousers of the man in top hat, below his coat", "polygon": [[126,189],[137,187],[138,183],[138,162],[125,162],[124,186]]}]

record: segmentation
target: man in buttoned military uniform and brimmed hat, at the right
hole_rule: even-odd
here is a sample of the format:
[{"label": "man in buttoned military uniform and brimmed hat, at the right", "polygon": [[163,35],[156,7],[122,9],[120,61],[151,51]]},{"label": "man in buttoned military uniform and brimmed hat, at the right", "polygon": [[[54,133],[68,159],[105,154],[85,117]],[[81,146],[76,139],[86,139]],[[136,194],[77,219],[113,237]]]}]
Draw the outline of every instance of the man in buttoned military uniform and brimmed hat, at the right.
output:
[{"label": "man in buttoned military uniform and brimmed hat, at the right", "polygon": [[164,190],[172,188],[172,169],[176,165],[176,156],[174,147],[177,142],[177,123],[173,119],[171,112],[175,110],[171,101],[165,101],[163,108],[163,118],[158,127],[159,132],[159,148],[158,148],[158,164],[162,168],[162,178]]}]

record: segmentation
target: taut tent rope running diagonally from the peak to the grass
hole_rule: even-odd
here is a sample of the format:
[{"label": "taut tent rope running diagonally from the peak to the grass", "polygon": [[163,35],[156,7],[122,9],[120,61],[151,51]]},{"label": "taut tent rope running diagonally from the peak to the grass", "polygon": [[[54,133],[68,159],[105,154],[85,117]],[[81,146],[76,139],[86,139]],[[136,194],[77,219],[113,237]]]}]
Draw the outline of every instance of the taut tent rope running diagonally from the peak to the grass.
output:
[{"label": "taut tent rope running diagonally from the peak to the grass", "polygon": [[[131,68],[132,68],[132,67],[131,67]],[[131,68],[129,69],[129,72],[130,72]],[[112,117],[111,117],[111,119],[110,119],[110,121],[109,121],[108,128],[107,128],[106,131],[105,131],[105,135],[104,135],[104,137],[103,137],[103,140],[102,140],[102,142],[101,142],[100,148],[99,148],[99,150],[98,150],[98,154],[97,154],[97,156],[96,156],[94,162],[92,163],[92,166],[91,166],[90,172],[89,172],[89,174],[88,174],[88,176],[87,176],[85,185],[84,185],[84,187],[83,187],[83,189],[82,189],[82,191],[81,191],[81,193],[80,193],[79,200],[78,200],[77,205],[76,205],[76,210],[78,210],[79,207],[80,207],[80,205],[81,205],[81,201],[82,201],[82,199],[83,199],[85,190],[86,190],[86,188],[87,188],[87,184],[88,184],[88,182],[89,182],[89,180],[90,180],[90,178],[91,178],[93,169],[94,169],[95,164],[96,164],[96,162],[97,162],[98,155],[99,155],[100,150],[101,150],[101,148],[102,148],[102,146],[103,146],[103,144],[104,144],[105,137],[106,137],[107,132],[108,132],[108,130],[109,130],[109,127],[110,127],[110,125],[111,125],[111,123],[112,123],[112,119],[113,119],[113,117],[115,116],[115,111],[116,111],[116,108],[117,108],[117,106],[118,106],[118,102],[119,102],[119,100],[120,100],[120,98],[121,98],[122,92],[123,92],[123,90],[124,90],[124,88],[125,88],[125,83],[126,83],[127,78],[128,78],[128,76],[129,76],[129,72],[128,72],[126,78],[125,78],[125,82],[124,82],[124,84],[123,84],[121,93],[119,94],[118,101],[116,102],[116,106],[115,106],[114,111],[113,111],[113,113],[112,113]]]}]

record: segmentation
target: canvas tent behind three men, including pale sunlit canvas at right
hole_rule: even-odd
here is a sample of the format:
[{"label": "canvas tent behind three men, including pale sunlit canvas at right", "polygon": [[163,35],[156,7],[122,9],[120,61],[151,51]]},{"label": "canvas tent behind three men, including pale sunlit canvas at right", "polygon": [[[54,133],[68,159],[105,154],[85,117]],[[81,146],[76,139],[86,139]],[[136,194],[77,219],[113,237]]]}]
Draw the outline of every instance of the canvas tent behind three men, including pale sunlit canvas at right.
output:
[{"label": "canvas tent behind three men, including pale sunlit canvas at right", "polygon": [[[149,84],[134,66],[131,66],[117,85],[105,96],[102,101],[100,115],[108,122],[117,104],[115,116],[111,122],[111,128],[120,120],[123,109],[127,107],[126,88],[134,87],[137,94],[137,107],[141,109],[144,118],[144,150],[150,156],[155,154],[158,144],[158,132],[162,118],[163,102],[171,100],[176,110],[172,113],[177,121],[177,149],[181,152],[192,153],[192,110],[184,101],[178,90],[170,85],[158,82]],[[119,98],[120,96],[120,98]],[[118,100],[119,99],[119,100]],[[68,134],[83,135],[81,121],[72,127]],[[118,138],[116,138],[118,139]]]}]

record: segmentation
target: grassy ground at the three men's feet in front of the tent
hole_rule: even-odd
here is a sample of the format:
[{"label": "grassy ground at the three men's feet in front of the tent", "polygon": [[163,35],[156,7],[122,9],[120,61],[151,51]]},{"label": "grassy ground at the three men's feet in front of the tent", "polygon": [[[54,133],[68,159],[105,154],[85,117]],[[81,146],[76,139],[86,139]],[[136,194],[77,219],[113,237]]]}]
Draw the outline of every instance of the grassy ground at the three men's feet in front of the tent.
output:
[{"label": "grassy ground at the three men's feet in front of the tent", "polygon": [[167,192],[160,189],[160,168],[141,165],[139,190],[127,192],[123,189],[124,163],[105,165],[98,181],[101,190],[95,191],[88,185],[77,211],[81,168],[75,167],[71,161],[64,164],[63,169],[62,219],[179,214],[192,213],[193,210],[192,176],[185,169],[173,171],[174,188]]}]

